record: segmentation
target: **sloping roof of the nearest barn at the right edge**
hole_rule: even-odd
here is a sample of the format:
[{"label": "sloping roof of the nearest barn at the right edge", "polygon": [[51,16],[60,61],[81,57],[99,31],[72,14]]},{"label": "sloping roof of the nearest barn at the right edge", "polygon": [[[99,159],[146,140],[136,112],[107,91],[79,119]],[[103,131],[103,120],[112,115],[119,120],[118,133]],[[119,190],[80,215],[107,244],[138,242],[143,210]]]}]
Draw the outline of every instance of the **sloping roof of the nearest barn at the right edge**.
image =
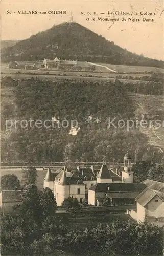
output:
[{"label": "sloping roof of the nearest barn at the right edge", "polygon": [[135,200],[137,203],[146,206],[155,196],[159,196],[164,201],[164,193],[158,192],[156,190],[150,189],[149,187],[145,188],[142,193],[140,193]]}]

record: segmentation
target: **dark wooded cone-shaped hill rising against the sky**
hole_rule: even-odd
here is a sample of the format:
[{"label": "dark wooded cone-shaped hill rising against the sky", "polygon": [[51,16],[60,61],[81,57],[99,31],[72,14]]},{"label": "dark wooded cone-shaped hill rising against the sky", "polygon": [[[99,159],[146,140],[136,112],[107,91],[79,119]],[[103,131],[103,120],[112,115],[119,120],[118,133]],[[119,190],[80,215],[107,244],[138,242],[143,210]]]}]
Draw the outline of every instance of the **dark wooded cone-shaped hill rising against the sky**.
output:
[{"label": "dark wooded cone-shaped hill rising against the sky", "polygon": [[62,23],[2,50],[2,61],[77,59],[91,62],[152,66],[163,61],[131,53],[78,23]]}]

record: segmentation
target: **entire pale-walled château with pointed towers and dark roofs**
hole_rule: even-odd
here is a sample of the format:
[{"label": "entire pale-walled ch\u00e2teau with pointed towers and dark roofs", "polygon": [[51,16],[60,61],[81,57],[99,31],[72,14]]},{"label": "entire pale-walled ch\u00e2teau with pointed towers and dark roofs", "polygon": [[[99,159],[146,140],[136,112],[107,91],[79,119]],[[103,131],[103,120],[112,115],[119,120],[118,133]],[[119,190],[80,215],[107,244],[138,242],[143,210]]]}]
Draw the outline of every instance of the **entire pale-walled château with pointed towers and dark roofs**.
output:
[{"label": "entire pale-walled ch\u00e2teau with pointed towers and dark roofs", "polygon": [[[106,196],[110,196],[111,204],[119,200],[127,201],[126,203],[133,202],[146,186],[132,183],[131,156],[127,152],[124,156],[124,170],[121,175],[108,169],[105,163],[100,170],[94,170],[93,166],[90,169],[80,169],[79,166],[77,169],[68,169],[65,166],[60,172],[52,173],[49,168],[44,179],[44,188],[52,189],[58,206],[61,206],[64,199],[68,197],[77,198],[79,202],[88,198],[89,204],[98,206]],[[113,191],[115,199],[109,195]],[[125,194],[127,192],[128,194]]]}]

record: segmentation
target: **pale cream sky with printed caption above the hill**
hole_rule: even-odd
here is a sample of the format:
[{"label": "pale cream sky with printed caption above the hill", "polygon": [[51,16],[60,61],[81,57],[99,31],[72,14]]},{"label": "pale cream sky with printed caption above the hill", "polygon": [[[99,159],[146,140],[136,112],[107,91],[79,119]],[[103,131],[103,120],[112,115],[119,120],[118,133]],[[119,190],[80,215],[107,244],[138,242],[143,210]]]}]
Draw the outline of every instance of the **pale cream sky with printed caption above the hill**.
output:
[{"label": "pale cream sky with printed caption above the hill", "polygon": [[[1,0],[1,39],[2,40],[22,40],[31,35],[51,28],[62,22],[68,22],[73,16],[77,22],[86,28],[102,35],[107,40],[113,41],[116,45],[126,48],[137,54],[144,54],[146,57],[164,60],[164,34],[163,1],[40,1],[40,0]],[[66,11],[64,15],[57,14],[19,14],[18,11]],[[129,15],[108,15],[107,12],[122,11],[131,12]],[[134,15],[134,11],[138,15]],[[140,12],[152,12],[155,15],[140,15]],[[11,13],[7,13],[11,12]],[[15,13],[14,13],[15,12]],[[81,14],[82,12],[85,13]],[[90,13],[87,15],[87,13]],[[93,13],[96,12],[97,15]],[[105,13],[105,14],[100,14]],[[91,20],[95,18],[95,21]],[[119,22],[101,22],[102,18],[119,18]],[[151,18],[154,22],[126,22],[122,18]],[[86,20],[90,18],[90,20]]]}]

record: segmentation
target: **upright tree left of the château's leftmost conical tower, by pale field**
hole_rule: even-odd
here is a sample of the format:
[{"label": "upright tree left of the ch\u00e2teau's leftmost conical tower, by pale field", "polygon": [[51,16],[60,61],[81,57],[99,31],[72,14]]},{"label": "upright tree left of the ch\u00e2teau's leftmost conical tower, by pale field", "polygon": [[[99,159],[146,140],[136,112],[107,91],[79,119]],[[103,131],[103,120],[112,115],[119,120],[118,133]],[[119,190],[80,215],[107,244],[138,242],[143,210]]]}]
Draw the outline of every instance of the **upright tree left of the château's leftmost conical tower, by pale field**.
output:
[{"label": "upright tree left of the ch\u00e2teau's leftmost conical tower, by pale field", "polygon": [[35,167],[30,166],[27,168],[24,168],[22,170],[22,182],[24,183],[24,186],[28,185],[28,184],[36,184],[36,180],[37,180],[37,170]]}]

